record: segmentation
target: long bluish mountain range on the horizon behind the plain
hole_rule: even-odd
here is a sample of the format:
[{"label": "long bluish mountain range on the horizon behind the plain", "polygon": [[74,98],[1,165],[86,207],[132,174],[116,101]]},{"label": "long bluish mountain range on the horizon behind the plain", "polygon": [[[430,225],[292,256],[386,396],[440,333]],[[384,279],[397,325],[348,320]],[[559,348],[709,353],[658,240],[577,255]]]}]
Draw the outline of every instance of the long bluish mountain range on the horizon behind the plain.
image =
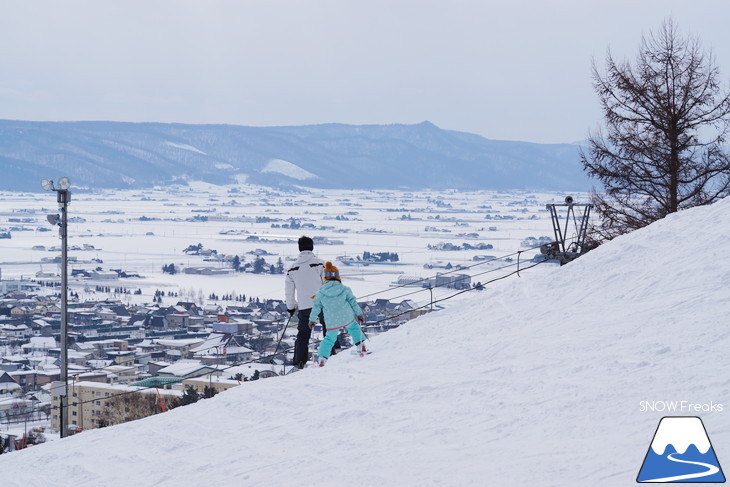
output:
[{"label": "long bluish mountain range on the horizon behind the plain", "polygon": [[0,120],[0,189],[250,182],[343,189],[587,191],[578,145],[489,140],[416,125],[244,127]]}]

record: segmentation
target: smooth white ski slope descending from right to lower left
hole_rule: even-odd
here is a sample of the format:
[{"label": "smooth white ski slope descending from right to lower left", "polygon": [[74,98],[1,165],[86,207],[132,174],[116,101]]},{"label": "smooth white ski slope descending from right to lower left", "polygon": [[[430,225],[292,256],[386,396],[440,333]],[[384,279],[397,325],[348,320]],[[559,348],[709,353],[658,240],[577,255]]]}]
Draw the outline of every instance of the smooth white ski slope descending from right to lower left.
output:
[{"label": "smooth white ski slope descending from right to lower left", "polygon": [[[728,234],[730,199],[671,215],[365,358],[3,455],[2,484],[626,486],[663,415],[701,416],[730,463]],[[642,412],[671,400],[725,407]]]}]

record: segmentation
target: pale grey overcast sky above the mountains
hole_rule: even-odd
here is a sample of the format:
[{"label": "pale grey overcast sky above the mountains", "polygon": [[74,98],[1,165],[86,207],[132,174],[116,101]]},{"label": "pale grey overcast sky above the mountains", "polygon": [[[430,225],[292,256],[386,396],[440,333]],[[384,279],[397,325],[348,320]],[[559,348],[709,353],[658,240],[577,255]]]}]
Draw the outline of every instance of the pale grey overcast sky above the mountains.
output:
[{"label": "pale grey overcast sky above the mountains", "polygon": [[0,0],[0,118],[575,142],[601,120],[591,60],[668,16],[730,81],[725,0]]}]

